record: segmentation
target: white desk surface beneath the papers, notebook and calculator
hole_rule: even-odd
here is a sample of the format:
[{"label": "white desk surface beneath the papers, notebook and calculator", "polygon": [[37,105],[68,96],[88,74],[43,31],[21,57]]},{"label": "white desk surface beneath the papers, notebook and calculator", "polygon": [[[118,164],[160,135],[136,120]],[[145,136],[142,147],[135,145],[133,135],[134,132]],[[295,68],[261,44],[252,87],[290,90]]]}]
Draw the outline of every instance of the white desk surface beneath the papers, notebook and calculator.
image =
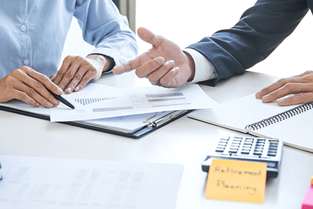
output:
[{"label": "white desk surface beneath the papers, notebook and calculator", "polygon": [[[227,102],[277,80],[255,72],[232,77],[216,87],[202,86],[216,102]],[[145,86],[133,72],[107,75],[97,81],[110,86]],[[180,208],[301,208],[313,175],[313,154],[284,147],[278,178],[266,183],[263,204],[204,198],[207,173],[201,163],[219,134],[239,134],[221,127],[179,118],[142,139],[129,139],[61,123],[0,111],[0,155],[26,155],[90,160],[122,160],[184,164],[177,209]],[[308,140],[312,140],[307,136]],[[160,200],[161,201],[161,200]]]}]

